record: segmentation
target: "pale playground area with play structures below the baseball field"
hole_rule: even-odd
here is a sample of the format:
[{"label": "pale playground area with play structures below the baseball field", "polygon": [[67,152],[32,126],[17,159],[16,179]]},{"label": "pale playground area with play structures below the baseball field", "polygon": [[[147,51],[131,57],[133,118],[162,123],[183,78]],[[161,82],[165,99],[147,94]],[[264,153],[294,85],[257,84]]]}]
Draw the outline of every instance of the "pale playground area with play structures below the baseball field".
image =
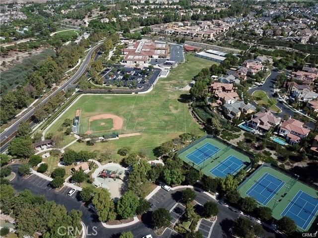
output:
[{"label": "pale playground area with play structures below the baseball field", "polygon": [[127,171],[127,168],[115,163],[99,166],[92,174],[93,184],[96,187],[107,188],[112,198],[120,198],[125,192]]}]

